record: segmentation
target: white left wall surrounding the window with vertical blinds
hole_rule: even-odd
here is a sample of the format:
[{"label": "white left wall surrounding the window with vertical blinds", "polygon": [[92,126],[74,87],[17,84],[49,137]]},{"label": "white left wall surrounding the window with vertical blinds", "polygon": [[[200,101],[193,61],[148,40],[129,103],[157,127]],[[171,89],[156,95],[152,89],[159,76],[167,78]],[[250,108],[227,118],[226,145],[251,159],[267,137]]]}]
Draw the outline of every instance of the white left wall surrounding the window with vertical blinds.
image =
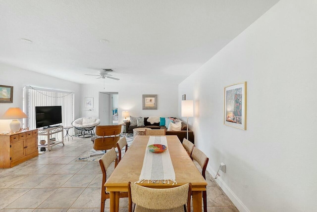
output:
[{"label": "white left wall surrounding the window with vertical blinds", "polygon": [[[0,63],[0,85],[13,86],[13,103],[0,103],[0,115],[9,107],[20,107],[23,109],[23,86],[31,85],[40,88],[74,92],[75,117],[80,116],[80,85],[77,83]],[[20,121],[22,123],[22,119]],[[11,120],[0,120],[0,131],[10,130],[10,122]]]}]

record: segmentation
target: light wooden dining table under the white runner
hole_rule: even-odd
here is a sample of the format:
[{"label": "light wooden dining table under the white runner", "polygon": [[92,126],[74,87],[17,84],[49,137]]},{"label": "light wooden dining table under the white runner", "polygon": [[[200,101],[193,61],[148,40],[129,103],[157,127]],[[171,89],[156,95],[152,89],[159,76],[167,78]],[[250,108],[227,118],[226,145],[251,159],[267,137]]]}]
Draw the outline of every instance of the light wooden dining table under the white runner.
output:
[{"label": "light wooden dining table under the white runner", "polygon": [[[128,191],[128,182],[139,180],[147,144],[150,136],[136,136],[128,151],[124,154],[105,186],[110,193],[110,212],[119,211],[119,193]],[[202,192],[206,191],[207,182],[188,156],[183,145],[176,135],[166,136],[167,148],[172,160],[177,184],[152,183],[148,180],[139,185],[150,188],[172,188],[175,186],[192,183],[192,200],[194,212],[202,211]],[[159,154],[159,153],[158,153]]]}]

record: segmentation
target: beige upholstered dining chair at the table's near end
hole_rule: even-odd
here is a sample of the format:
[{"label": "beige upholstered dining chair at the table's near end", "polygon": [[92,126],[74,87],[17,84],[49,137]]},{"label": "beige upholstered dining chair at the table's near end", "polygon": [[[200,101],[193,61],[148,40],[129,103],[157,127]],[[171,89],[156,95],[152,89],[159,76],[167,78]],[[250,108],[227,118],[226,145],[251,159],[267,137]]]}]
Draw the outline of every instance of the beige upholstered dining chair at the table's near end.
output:
[{"label": "beige upholstered dining chair at the table's near end", "polygon": [[136,183],[128,183],[129,212],[132,212],[132,203],[135,204],[134,212],[152,212],[153,210],[168,210],[168,212],[190,212],[192,184],[165,189],[148,188]]}]

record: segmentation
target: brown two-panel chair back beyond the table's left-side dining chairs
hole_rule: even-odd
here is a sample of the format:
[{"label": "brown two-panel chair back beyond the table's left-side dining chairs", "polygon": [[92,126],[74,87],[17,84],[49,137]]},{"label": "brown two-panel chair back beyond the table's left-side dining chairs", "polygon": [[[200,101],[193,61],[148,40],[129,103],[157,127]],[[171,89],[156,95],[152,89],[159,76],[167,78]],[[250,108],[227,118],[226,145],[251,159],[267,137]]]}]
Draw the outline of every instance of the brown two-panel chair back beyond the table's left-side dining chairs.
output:
[{"label": "brown two-panel chair back beyond the table's left-side dining chairs", "polygon": [[94,141],[95,150],[109,150],[116,147],[120,139],[121,125],[98,125],[96,126],[97,137]]}]

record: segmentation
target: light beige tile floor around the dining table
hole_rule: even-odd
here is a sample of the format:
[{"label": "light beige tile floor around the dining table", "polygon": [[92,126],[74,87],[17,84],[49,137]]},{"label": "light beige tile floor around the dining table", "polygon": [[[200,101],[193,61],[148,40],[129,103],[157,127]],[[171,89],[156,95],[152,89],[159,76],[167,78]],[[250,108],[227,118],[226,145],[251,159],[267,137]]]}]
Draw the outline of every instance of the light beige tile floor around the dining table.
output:
[{"label": "light beige tile floor around the dining table", "polygon": [[[100,212],[102,172],[98,161],[76,161],[92,149],[90,138],[58,144],[13,168],[0,169],[0,212]],[[112,167],[112,166],[111,166]],[[113,169],[107,170],[109,176]],[[207,174],[208,212],[238,212]],[[109,211],[106,200],[105,212]],[[120,212],[128,211],[126,198]]]}]

